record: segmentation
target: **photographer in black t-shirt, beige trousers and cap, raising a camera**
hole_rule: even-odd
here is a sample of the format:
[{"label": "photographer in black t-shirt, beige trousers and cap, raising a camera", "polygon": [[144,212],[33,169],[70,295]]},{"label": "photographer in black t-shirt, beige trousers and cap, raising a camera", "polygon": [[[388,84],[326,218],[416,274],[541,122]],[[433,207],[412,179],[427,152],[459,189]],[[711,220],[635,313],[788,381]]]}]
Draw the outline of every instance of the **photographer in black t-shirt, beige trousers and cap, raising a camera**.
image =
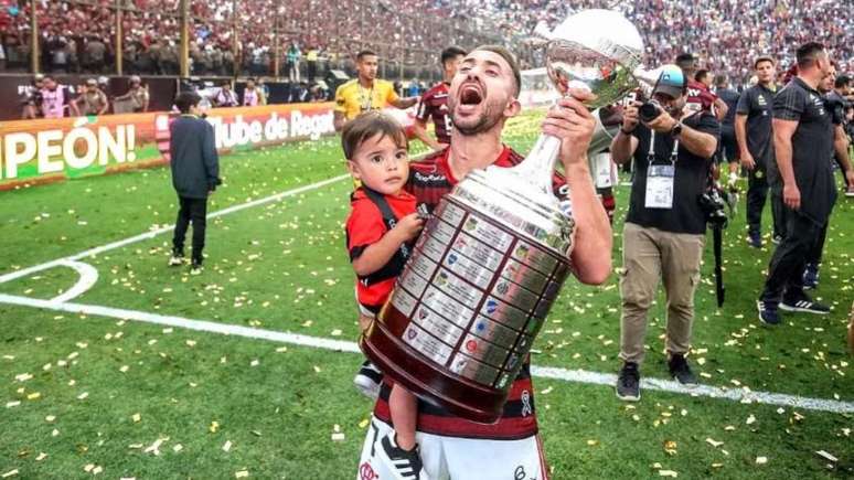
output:
[{"label": "photographer in black t-shirt, beige trousers and cap, raising a camera", "polygon": [[611,142],[617,163],[633,158],[634,182],[622,236],[622,318],[617,396],[640,399],[647,312],[659,279],[668,296],[666,351],[671,375],[697,383],[685,360],[694,320],[694,291],[706,217],[700,204],[717,149],[719,125],[705,110],[685,113],[687,82],[675,65],[662,68],[653,99],[626,108]]}]

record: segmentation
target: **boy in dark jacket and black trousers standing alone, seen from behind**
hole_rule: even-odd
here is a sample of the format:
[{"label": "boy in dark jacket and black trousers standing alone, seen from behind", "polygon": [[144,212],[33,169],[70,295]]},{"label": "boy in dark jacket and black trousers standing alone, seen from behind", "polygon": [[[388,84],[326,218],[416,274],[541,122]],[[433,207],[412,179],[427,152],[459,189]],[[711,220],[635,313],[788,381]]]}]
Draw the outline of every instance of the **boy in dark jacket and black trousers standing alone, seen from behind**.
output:
[{"label": "boy in dark jacket and black trousers standing alone, seen from behind", "polygon": [[192,275],[202,271],[207,196],[222,183],[213,127],[199,116],[201,99],[194,92],[178,94],[175,106],[181,110],[181,117],[172,122],[169,140],[172,185],[178,192],[180,203],[169,265],[179,266],[184,263],[184,237],[192,221]]}]

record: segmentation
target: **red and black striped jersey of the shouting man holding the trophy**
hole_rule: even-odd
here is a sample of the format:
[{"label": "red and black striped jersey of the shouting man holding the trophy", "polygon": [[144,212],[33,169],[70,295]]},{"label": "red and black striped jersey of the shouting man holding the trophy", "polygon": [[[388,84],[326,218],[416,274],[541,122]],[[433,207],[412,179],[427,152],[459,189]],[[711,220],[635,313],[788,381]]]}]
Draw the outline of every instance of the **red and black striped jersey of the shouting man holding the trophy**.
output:
[{"label": "red and black striped jersey of the shouting man holding the trophy", "polygon": [[[425,204],[430,211],[459,181],[448,167],[449,152],[450,148],[447,148],[409,164],[409,180],[406,190],[415,195],[418,204]],[[524,158],[521,154],[505,146],[492,164],[513,167],[522,160]],[[565,185],[563,177],[555,173],[554,180],[555,192],[565,192],[566,189],[562,188]],[[374,408],[374,416],[384,422],[391,422],[389,391],[387,385],[383,387]],[[530,361],[525,361],[519,376],[513,381],[508,402],[504,404],[504,410],[497,423],[491,425],[478,424],[457,417],[436,405],[418,402],[418,431],[450,437],[501,440],[527,438],[536,435],[537,423]]]}]

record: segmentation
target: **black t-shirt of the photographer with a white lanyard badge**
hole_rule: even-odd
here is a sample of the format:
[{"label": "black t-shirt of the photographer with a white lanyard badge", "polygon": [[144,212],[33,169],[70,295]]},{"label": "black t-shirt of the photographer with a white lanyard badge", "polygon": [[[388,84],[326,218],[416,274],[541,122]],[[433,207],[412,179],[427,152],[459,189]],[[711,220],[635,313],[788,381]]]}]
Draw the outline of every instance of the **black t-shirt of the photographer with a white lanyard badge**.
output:
[{"label": "black t-shirt of the photographer with a white lanyard badge", "polygon": [[[707,111],[694,114],[682,122],[720,140],[720,125]],[[629,214],[626,221],[664,232],[704,234],[706,220],[700,207],[700,195],[706,189],[712,158],[697,157],[680,142],[674,166],[673,207],[647,209],[644,205],[651,131],[643,125],[638,125],[632,136],[638,139],[638,149],[634,150],[634,181],[631,185]],[[668,134],[655,134],[653,164],[671,163],[673,141],[673,137]]]}]

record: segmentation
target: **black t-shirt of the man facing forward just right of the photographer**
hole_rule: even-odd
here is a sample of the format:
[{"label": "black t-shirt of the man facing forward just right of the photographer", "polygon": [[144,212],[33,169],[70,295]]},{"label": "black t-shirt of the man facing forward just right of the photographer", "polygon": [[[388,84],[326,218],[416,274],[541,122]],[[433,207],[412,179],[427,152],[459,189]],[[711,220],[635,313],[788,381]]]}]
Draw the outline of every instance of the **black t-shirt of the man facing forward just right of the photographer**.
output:
[{"label": "black t-shirt of the man facing forward just right of the photographer", "polygon": [[747,151],[760,170],[773,168],[773,138],[771,137],[771,122],[773,119],[773,92],[761,85],[754,85],[746,89],[738,98],[736,107],[738,115],[747,115],[745,136],[747,137]]}]

